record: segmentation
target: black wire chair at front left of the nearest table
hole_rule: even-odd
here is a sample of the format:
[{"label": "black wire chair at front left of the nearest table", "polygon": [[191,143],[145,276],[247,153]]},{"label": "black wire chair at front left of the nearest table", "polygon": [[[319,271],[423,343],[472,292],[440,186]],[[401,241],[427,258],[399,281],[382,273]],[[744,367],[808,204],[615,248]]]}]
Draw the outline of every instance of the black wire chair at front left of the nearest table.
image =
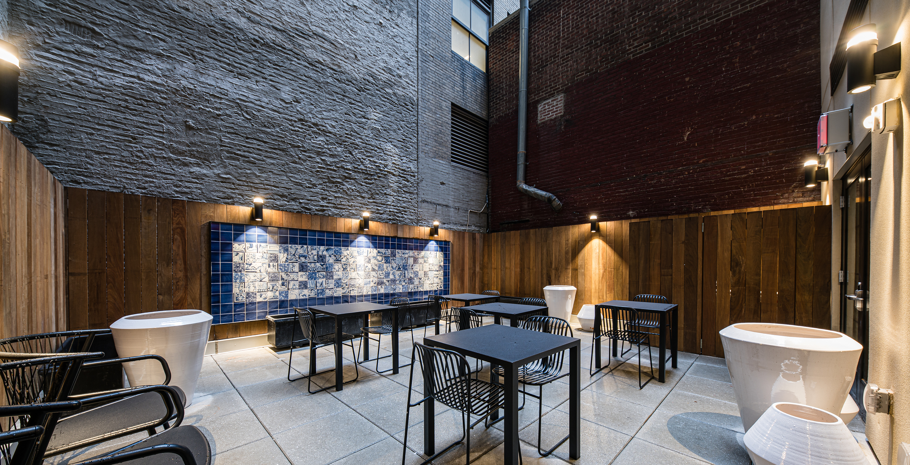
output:
[{"label": "black wire chair at front left of the nearest table", "polygon": [[[414,391],[414,367],[420,361],[420,372],[423,376],[424,392],[426,397],[411,403],[411,393]],[[466,464],[470,465],[470,430],[473,430],[480,421],[484,428],[490,428],[487,422],[490,414],[496,409],[505,409],[505,395],[501,386],[497,386],[482,379],[470,377],[468,359],[458,352],[446,349],[436,349],[414,344],[410,353],[410,378],[408,380],[408,407],[404,417],[404,445],[401,450],[401,465],[404,465],[408,454],[408,424],[410,422],[410,409],[426,401],[437,401],[461,412],[461,438],[452,442],[448,447],[434,454],[430,459],[424,460],[420,465],[426,465],[436,460],[440,455],[451,448],[467,441],[465,450]],[[470,416],[479,416],[480,420],[470,422]]]}]

